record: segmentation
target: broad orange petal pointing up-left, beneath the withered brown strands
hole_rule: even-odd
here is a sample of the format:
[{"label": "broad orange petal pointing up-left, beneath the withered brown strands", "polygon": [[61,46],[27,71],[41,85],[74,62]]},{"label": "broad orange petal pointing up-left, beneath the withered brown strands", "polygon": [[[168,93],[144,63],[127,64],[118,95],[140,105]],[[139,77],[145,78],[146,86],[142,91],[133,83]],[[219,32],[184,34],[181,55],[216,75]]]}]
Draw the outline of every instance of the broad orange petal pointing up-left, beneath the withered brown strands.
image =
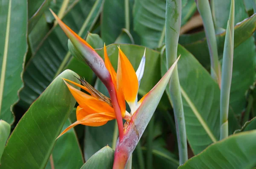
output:
[{"label": "broad orange petal pointing up-left, beneath the withered brown strands", "polygon": [[73,86],[69,85],[67,82],[65,83],[69,88],[70,92],[72,93],[72,95],[74,96],[74,98],[76,99],[76,101],[78,102],[78,104],[80,105],[80,107],[90,108],[90,111],[93,111],[93,113],[114,113],[113,107],[108,105],[105,101],[101,101],[93,96],[83,93],[80,90],[77,90]]}]

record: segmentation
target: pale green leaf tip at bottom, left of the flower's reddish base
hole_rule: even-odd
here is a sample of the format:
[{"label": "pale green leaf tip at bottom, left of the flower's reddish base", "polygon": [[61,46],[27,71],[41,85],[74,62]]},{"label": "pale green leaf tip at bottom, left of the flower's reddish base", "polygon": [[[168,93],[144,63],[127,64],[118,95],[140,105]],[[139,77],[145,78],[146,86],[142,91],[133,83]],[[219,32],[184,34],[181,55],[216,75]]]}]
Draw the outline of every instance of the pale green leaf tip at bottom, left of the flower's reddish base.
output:
[{"label": "pale green leaf tip at bottom, left of the flower's reddish base", "polygon": [[114,150],[105,146],[89,158],[81,169],[112,169],[113,161]]}]

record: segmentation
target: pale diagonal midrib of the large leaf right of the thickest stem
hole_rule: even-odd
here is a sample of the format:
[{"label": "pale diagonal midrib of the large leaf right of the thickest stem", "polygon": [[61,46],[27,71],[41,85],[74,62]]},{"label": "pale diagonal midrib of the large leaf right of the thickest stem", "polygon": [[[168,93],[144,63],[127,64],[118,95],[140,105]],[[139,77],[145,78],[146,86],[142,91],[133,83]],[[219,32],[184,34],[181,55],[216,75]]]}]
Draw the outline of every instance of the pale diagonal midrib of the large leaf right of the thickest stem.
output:
[{"label": "pale diagonal midrib of the large leaf right of the thickest stem", "polygon": [[200,124],[202,125],[204,130],[207,132],[209,138],[212,140],[213,143],[217,142],[217,139],[216,139],[215,135],[212,133],[212,130],[206,124],[206,122],[204,121],[204,118],[202,118],[201,114],[199,113],[199,111],[197,110],[197,108],[192,103],[192,101],[190,100],[189,96],[186,94],[186,92],[183,90],[183,88],[181,86],[180,86],[180,90],[181,90],[182,96],[184,97],[186,102],[189,104],[189,107],[191,108],[191,110],[195,114],[196,118],[198,119],[198,121],[200,122]]}]

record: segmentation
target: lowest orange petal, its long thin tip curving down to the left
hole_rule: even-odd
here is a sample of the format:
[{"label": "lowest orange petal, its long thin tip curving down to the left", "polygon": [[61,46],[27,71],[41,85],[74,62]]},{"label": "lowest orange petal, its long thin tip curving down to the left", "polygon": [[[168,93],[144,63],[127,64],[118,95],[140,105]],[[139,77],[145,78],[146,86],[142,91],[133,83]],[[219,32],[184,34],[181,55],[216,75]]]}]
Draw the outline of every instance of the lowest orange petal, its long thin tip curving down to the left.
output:
[{"label": "lowest orange petal, its long thin tip curving down to the left", "polygon": [[67,127],[61,134],[56,138],[58,139],[61,135],[63,135],[65,132],[70,130],[71,128],[75,127],[78,124],[83,124],[86,126],[102,126],[106,124],[108,121],[115,119],[115,115],[113,113],[96,113],[96,114],[90,114],[85,116],[84,118],[74,122],[69,127]]}]

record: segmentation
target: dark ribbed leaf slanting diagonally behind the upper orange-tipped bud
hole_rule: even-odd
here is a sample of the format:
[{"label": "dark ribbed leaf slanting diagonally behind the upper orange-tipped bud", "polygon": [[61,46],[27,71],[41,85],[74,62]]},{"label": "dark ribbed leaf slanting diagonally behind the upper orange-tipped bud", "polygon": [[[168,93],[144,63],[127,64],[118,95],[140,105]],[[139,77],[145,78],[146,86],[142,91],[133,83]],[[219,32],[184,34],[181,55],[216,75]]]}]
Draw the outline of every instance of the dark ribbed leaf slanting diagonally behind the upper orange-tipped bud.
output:
[{"label": "dark ribbed leaf slanting diagonally behind the upper orange-tipped bud", "polygon": [[[90,31],[97,20],[102,2],[103,0],[74,1],[63,19],[64,23],[85,37],[87,31]],[[90,11],[91,8],[92,11]],[[28,108],[52,82],[52,79],[64,69],[71,57],[67,48],[67,40],[68,38],[59,25],[53,27],[44,37],[44,41],[26,65],[23,74],[24,88],[20,92],[20,106]]]}]

